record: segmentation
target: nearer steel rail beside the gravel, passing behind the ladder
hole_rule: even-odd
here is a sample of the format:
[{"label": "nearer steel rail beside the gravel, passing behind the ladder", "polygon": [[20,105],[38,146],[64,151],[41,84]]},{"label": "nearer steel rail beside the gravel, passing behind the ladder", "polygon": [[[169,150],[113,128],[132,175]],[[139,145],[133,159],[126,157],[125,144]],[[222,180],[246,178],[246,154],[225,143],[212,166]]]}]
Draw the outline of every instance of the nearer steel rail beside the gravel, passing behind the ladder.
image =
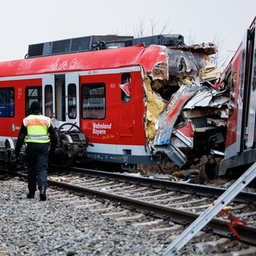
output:
[{"label": "nearer steel rail beside the gravel, passing behind the ladder", "polygon": [[[24,173],[18,172],[17,175],[26,178],[26,174]],[[125,175],[121,176],[122,178],[125,178]],[[145,182],[145,180],[142,181]],[[179,223],[182,226],[188,226],[190,223],[194,222],[194,220],[200,215],[197,213],[188,212],[186,210],[174,209],[170,206],[162,206],[156,203],[146,202],[135,198],[129,198],[118,194],[107,193],[102,190],[94,190],[82,186],[76,186],[70,183],[58,182],[51,179],[48,179],[48,184],[50,186],[57,186],[58,188],[62,188],[65,190],[71,190],[74,193],[92,195],[96,196],[97,198],[110,200],[111,202],[117,202],[118,204],[121,204],[127,209],[137,210],[146,215],[152,215],[158,218],[164,218],[166,220]],[[242,242],[247,242],[256,246],[256,227],[234,226],[234,229],[237,230]],[[234,237],[234,234],[232,234],[229,227],[226,225],[226,222],[219,218],[213,218],[205,227],[205,230],[212,230],[214,234],[222,235],[225,237]]]}]

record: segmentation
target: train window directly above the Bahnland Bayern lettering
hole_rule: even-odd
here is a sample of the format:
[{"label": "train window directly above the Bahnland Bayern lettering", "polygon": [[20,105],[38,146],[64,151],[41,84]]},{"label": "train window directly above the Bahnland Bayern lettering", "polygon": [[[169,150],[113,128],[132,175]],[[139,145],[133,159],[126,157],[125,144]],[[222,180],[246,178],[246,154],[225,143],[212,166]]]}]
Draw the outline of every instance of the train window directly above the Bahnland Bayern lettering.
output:
[{"label": "train window directly above the Bahnland Bayern lettering", "polygon": [[103,83],[82,85],[82,118],[104,119],[106,89]]}]

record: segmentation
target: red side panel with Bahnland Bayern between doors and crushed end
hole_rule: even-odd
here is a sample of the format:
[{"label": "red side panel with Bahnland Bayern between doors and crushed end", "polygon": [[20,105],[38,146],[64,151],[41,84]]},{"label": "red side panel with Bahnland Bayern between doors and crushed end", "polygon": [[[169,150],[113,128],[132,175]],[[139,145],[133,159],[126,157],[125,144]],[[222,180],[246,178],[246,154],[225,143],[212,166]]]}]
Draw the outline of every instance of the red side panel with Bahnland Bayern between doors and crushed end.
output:
[{"label": "red side panel with Bahnland Bayern between doors and crushed end", "polygon": [[141,68],[134,66],[82,74],[80,86],[80,123],[94,145],[88,147],[88,158],[121,163],[149,162]]}]

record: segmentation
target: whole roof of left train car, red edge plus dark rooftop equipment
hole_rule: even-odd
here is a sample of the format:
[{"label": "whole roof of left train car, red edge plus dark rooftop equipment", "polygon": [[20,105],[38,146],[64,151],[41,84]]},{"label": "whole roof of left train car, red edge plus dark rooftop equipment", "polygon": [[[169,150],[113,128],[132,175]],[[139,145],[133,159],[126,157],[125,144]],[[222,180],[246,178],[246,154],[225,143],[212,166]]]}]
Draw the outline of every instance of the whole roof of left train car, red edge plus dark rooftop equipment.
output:
[{"label": "whole roof of left train car, red edge plus dark rooftop equipment", "polygon": [[213,43],[186,46],[180,34],[71,38],[30,45],[25,59],[0,62],[0,78],[138,65],[154,78],[168,79],[169,74],[181,72],[194,76],[206,64],[203,55],[216,52]]}]

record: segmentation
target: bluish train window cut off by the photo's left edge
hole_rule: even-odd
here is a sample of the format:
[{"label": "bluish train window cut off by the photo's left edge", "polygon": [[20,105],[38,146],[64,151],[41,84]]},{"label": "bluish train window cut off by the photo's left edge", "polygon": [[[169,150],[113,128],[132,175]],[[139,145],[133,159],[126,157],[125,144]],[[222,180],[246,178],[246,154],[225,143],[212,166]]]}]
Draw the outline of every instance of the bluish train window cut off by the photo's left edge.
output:
[{"label": "bluish train window cut off by the photo's left edge", "polygon": [[14,116],[14,88],[0,89],[0,117]]}]

